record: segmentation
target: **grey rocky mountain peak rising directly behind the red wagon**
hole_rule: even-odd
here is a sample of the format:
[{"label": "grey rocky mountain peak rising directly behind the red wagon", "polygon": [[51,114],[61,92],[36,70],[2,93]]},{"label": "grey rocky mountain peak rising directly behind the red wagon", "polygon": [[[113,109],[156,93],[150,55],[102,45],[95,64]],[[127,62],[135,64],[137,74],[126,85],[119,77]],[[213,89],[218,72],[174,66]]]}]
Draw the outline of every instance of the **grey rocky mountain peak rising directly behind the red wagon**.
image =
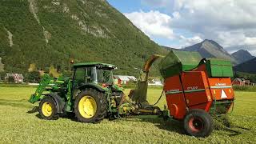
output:
[{"label": "grey rocky mountain peak rising directly behind the red wagon", "polygon": [[204,40],[193,46],[188,46],[182,50],[186,51],[198,51],[203,58],[223,58],[230,60],[234,64],[237,64],[237,60],[230,55],[226,50],[223,49],[217,42],[213,40]]}]

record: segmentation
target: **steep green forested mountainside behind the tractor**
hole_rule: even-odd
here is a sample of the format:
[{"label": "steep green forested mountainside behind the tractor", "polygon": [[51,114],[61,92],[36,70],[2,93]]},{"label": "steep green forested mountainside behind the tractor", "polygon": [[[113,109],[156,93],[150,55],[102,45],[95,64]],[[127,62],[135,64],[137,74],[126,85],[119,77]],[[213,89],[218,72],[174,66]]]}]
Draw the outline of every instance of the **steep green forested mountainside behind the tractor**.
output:
[{"label": "steep green forested mountainside behind the tractor", "polygon": [[74,59],[112,63],[117,74],[135,74],[151,54],[167,51],[106,0],[2,0],[0,39],[5,70],[15,73],[30,66],[68,70]]}]

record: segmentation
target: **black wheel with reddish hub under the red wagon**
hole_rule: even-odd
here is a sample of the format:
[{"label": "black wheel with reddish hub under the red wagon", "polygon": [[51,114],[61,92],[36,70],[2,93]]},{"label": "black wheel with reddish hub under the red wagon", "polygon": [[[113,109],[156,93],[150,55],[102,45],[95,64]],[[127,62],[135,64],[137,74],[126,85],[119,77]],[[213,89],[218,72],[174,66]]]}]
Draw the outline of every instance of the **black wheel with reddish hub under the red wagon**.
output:
[{"label": "black wheel with reddish hub under the red wagon", "polygon": [[214,123],[205,110],[194,109],[186,114],[184,129],[186,134],[194,137],[207,137],[213,131]]}]

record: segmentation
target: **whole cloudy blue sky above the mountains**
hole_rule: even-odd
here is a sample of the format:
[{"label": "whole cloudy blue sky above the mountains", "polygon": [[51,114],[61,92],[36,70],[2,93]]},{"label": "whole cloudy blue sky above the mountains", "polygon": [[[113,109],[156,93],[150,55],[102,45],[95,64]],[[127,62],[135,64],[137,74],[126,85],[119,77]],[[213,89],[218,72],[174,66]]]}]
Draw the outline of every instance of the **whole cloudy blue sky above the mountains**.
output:
[{"label": "whole cloudy blue sky above the mountains", "polygon": [[182,48],[212,39],[256,56],[256,0],[107,0],[154,42]]}]

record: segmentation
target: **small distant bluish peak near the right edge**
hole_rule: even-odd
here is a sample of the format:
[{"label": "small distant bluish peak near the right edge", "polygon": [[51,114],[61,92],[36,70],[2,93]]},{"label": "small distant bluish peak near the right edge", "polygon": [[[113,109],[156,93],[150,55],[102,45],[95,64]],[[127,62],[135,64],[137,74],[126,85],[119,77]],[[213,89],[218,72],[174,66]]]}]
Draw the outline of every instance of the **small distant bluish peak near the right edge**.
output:
[{"label": "small distant bluish peak near the right edge", "polygon": [[247,50],[238,50],[237,52],[234,52],[233,54],[231,54],[234,58],[236,58],[236,60],[238,61],[238,63],[242,63],[242,62],[246,62],[249,61],[252,58],[255,58],[253,55],[250,54],[249,51]]}]

